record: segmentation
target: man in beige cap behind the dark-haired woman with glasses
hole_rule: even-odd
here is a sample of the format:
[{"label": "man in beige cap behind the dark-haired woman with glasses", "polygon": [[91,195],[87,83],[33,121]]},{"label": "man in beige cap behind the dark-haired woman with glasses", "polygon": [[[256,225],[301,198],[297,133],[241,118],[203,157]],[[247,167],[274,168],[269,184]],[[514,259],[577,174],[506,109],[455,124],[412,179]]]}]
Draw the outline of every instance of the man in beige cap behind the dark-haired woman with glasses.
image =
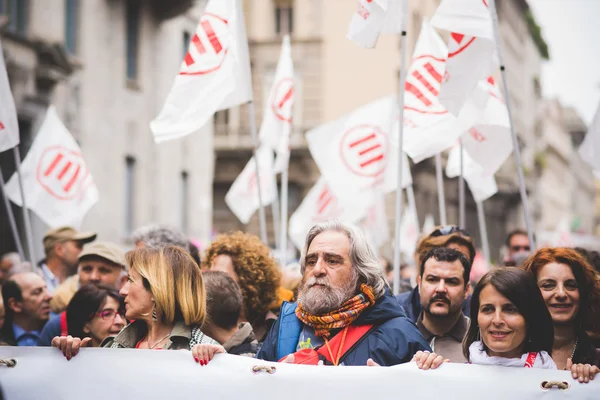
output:
[{"label": "man in beige cap behind the dark-haired woman with glasses", "polygon": [[64,310],[80,287],[92,283],[120,290],[122,283],[127,279],[127,274],[125,253],[117,244],[94,242],[86,245],[79,255],[77,275],[63,282],[54,293],[50,307],[58,315],[52,317],[42,330],[38,346],[50,346],[52,339],[65,331]]}]

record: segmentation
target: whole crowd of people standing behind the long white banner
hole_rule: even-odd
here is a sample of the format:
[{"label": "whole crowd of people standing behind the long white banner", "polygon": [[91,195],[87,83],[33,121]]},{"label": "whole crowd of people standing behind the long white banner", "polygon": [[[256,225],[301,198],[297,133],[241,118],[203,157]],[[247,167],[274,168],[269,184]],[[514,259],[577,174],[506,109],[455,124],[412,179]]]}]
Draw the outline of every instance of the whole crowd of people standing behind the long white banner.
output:
[{"label": "whole crowd of people standing behind the long white banner", "polygon": [[200,365],[229,353],[311,365],[561,369],[580,382],[600,371],[600,255],[532,251],[521,230],[507,236],[504,265],[477,279],[473,238],[437,227],[417,245],[416,276],[403,268],[397,296],[389,263],[360,229],[336,220],[315,225],[299,270],[284,272],[242,232],[202,252],[161,226],[140,229],[133,243],[125,253],[61,227],[45,235],[34,268],[3,256],[2,344],[54,346],[68,360],[82,347],[109,347],[187,349]]}]

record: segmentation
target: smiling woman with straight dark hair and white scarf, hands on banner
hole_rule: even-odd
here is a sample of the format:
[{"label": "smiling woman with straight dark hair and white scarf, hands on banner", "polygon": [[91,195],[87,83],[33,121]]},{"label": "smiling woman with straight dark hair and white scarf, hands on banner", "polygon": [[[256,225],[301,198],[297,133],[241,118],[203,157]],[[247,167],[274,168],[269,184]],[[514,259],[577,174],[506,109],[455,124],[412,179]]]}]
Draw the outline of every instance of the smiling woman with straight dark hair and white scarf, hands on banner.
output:
[{"label": "smiling woman with straight dark hair and white scarf, hands on banner", "polygon": [[[533,275],[514,267],[496,268],[481,278],[471,299],[471,323],[463,340],[469,363],[556,369],[552,360],[552,318]],[[420,369],[444,361],[435,353],[417,352]],[[580,382],[594,379],[590,369],[572,370]]]}]

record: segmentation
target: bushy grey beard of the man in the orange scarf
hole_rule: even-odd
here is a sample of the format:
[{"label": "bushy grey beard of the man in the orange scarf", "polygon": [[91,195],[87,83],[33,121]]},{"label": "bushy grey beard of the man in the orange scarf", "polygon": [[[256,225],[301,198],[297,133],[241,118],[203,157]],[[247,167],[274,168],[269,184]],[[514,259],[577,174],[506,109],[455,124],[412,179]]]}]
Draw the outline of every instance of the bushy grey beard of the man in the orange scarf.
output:
[{"label": "bushy grey beard of the man in the orange scarf", "polygon": [[[331,286],[329,278],[310,277],[302,283],[298,292],[298,303],[311,315],[323,315],[335,311],[347,300],[356,295],[358,274],[353,271],[352,279],[348,285],[341,288]],[[312,286],[319,283],[325,286]]]}]

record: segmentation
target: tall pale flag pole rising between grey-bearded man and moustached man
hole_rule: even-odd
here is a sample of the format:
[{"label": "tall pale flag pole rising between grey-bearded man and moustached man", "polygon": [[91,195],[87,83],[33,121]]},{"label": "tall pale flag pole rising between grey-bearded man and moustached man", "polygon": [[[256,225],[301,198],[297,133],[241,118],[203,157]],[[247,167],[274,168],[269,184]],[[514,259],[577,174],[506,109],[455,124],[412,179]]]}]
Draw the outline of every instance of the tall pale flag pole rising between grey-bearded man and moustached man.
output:
[{"label": "tall pale flag pole rising between grey-bearded man and moustached man", "polygon": [[398,187],[396,188],[396,229],[394,235],[394,294],[400,293],[400,220],[402,219],[402,169],[404,166],[404,85],[406,82],[406,25],[408,22],[408,2],[403,2],[402,8],[402,32],[400,33],[400,93],[398,96]]}]

